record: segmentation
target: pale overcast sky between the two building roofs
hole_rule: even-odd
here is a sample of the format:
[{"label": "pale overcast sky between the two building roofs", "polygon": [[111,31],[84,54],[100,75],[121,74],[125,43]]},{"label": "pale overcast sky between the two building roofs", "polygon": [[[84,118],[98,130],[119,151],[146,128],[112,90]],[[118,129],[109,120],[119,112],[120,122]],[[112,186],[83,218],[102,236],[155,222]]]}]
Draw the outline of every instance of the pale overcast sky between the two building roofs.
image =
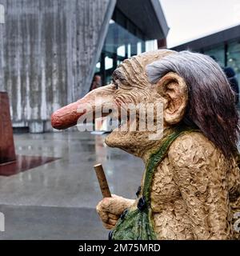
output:
[{"label": "pale overcast sky between the two building roofs", "polygon": [[160,0],[170,27],[167,46],[240,24],[240,0]]}]

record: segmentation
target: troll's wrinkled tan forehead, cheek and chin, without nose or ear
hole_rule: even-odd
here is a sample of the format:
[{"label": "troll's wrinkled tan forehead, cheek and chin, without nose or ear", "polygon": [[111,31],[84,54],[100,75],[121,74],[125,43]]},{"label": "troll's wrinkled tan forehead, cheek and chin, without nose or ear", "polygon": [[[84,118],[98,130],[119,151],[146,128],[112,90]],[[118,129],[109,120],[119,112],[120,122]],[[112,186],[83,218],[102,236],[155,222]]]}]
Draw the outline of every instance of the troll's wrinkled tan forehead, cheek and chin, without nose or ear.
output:
[{"label": "troll's wrinkled tan forehead, cheek and chin, without nose or ear", "polygon": [[[154,62],[156,58],[161,58],[168,54],[167,51],[162,51],[161,56],[154,54],[141,54],[129,59],[126,59],[118,66],[112,75],[114,91],[114,103],[118,107],[118,114],[121,109],[126,113],[126,122],[106,138],[106,144],[112,147],[118,147],[128,152],[139,154],[142,147],[150,147],[153,140],[150,139],[150,134],[154,134],[146,125],[143,129],[140,127],[140,122],[147,121],[147,115],[142,118],[141,113],[148,115],[152,114],[154,126],[157,126],[156,116],[162,114],[161,104],[164,104],[164,98],[158,94],[156,86],[150,84],[146,75],[146,65]],[[158,103],[158,106],[157,104]],[[134,111],[131,113],[129,106],[136,106],[136,115]],[[157,113],[158,111],[158,113]],[[162,115],[161,117],[162,118]],[[122,116],[119,116],[119,122],[122,121]],[[162,120],[159,120],[162,122]]]}]

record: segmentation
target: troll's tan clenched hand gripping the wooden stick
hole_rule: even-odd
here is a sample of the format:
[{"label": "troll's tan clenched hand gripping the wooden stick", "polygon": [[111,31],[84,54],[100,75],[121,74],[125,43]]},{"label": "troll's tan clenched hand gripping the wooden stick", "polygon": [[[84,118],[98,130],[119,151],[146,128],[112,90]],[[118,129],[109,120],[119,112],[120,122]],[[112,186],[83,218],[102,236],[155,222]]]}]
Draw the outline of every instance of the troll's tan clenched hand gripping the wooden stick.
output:
[{"label": "troll's tan clenched hand gripping the wooden stick", "polygon": [[133,203],[134,200],[122,198],[115,194],[112,194],[111,198],[103,198],[96,207],[103,226],[108,230],[114,228],[123,211]]}]

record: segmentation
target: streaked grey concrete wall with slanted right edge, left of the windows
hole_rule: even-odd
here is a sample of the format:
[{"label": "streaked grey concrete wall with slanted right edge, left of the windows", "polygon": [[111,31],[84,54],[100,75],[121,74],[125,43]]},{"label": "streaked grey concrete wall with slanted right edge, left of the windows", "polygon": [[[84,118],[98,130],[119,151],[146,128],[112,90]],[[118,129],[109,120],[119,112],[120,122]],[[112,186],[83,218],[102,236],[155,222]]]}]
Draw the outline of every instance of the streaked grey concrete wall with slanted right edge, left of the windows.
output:
[{"label": "streaked grey concrete wall with slanted right edge, left of the windows", "polygon": [[114,0],[2,0],[3,84],[14,126],[50,129],[50,114],[90,88]]}]

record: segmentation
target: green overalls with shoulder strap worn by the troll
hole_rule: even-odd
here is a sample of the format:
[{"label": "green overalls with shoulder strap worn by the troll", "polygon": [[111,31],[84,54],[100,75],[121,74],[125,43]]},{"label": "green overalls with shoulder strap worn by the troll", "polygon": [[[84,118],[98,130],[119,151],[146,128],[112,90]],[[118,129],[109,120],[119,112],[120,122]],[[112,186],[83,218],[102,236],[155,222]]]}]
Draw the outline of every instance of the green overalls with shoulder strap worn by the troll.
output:
[{"label": "green overalls with shoulder strap worn by the troll", "polygon": [[157,152],[151,154],[146,165],[146,174],[142,189],[142,197],[138,199],[137,209],[125,210],[119,218],[114,230],[110,231],[110,240],[156,240],[154,220],[150,208],[150,187],[154,171],[166,157],[172,142],[181,134],[194,131],[190,128],[178,127],[166,137]]}]

